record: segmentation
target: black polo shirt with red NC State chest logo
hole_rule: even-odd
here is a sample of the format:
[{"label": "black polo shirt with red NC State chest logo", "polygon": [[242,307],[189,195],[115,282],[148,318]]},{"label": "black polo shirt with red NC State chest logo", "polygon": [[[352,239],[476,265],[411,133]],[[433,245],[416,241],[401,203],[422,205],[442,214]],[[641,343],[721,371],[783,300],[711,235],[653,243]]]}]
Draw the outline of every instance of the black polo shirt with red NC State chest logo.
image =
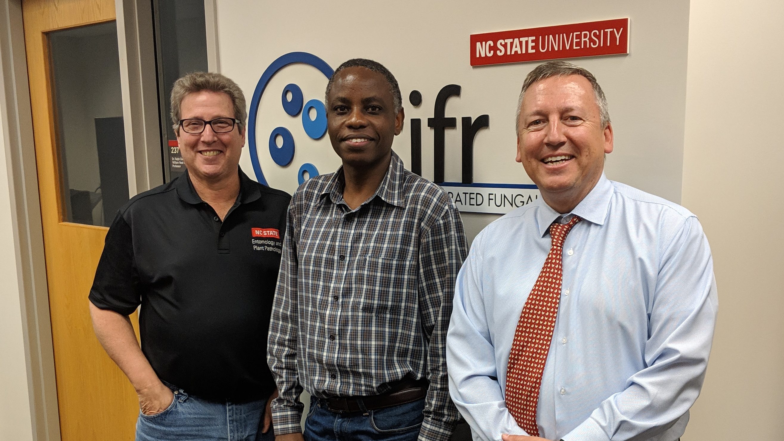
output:
[{"label": "black polo shirt with red NC State chest logo", "polygon": [[223,222],[189,175],[140,193],[107,233],[89,299],[124,316],[138,305],[158,377],[205,399],[270,395],[267,329],[291,197],[248,178]]}]

